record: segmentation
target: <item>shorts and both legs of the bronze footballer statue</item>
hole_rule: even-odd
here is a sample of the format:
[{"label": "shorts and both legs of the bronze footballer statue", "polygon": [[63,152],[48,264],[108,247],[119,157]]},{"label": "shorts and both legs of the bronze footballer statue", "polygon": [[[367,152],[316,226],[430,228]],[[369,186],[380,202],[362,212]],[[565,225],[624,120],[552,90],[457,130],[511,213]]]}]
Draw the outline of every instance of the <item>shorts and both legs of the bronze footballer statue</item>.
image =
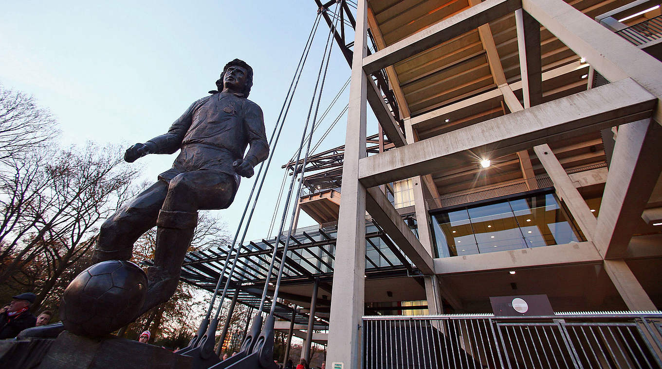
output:
[{"label": "shorts and both legs of the bronze footballer statue", "polygon": [[197,211],[226,209],[238,189],[232,158],[207,145],[183,147],[173,168],[120,207],[101,226],[93,262],[128,260],[138,238],[158,226],[154,267],[148,268],[148,297],[141,314],[175,292],[184,256],[197,224]]}]

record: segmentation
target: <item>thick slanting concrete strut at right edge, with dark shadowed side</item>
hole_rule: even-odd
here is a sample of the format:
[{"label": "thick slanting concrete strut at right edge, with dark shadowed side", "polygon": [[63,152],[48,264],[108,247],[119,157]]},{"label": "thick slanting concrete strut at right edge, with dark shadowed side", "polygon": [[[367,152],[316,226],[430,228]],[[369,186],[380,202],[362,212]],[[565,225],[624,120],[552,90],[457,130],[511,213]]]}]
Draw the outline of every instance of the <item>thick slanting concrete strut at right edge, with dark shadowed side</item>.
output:
[{"label": "thick slanting concrete strut at right edge, with dark shadowed side", "polygon": [[662,170],[662,127],[644,119],[618,127],[598,215],[595,246],[605,259],[620,259],[641,224],[641,213]]}]

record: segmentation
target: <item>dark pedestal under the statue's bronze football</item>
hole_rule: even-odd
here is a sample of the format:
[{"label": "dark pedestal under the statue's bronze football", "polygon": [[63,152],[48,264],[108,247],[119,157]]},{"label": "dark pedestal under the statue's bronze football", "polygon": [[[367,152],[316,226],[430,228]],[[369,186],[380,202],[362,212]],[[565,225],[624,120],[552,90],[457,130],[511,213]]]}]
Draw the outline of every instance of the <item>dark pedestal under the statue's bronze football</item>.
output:
[{"label": "dark pedestal under the statue's bronze football", "polygon": [[60,333],[39,369],[189,369],[191,357],[118,337]]}]

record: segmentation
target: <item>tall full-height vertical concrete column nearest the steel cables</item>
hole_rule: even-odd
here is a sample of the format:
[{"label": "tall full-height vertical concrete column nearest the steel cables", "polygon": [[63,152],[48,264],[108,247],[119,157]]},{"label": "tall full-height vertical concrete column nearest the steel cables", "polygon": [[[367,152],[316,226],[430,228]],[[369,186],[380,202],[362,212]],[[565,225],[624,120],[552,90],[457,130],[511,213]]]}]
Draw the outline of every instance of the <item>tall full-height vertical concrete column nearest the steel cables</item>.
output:
[{"label": "tall full-height vertical concrete column nearest the steel cables", "polygon": [[350,83],[342,166],[342,197],[338,217],[331,315],[326,366],[342,362],[344,368],[361,367],[361,316],[365,309],[365,187],[359,184],[359,159],[365,157],[367,76],[367,1],[359,0],[356,14],[354,59]]}]

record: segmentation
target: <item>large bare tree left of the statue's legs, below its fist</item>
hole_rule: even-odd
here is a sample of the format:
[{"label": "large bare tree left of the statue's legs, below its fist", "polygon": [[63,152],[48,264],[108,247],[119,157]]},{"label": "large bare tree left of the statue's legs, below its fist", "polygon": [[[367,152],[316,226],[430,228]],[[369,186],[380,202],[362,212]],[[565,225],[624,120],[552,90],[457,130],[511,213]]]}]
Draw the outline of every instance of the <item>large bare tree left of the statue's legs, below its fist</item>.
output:
[{"label": "large bare tree left of the statue's legs, below its fist", "polygon": [[[46,298],[64,271],[95,242],[99,222],[123,201],[136,178],[136,170],[121,159],[115,147],[71,148],[50,158],[37,169],[40,178],[28,194],[16,220],[0,283],[17,273],[39,271],[38,300]],[[18,196],[22,197],[22,196]],[[5,212],[6,213],[6,212]],[[14,245],[11,250],[9,245]],[[31,267],[30,267],[31,266]],[[38,306],[39,302],[36,303]]]}]

